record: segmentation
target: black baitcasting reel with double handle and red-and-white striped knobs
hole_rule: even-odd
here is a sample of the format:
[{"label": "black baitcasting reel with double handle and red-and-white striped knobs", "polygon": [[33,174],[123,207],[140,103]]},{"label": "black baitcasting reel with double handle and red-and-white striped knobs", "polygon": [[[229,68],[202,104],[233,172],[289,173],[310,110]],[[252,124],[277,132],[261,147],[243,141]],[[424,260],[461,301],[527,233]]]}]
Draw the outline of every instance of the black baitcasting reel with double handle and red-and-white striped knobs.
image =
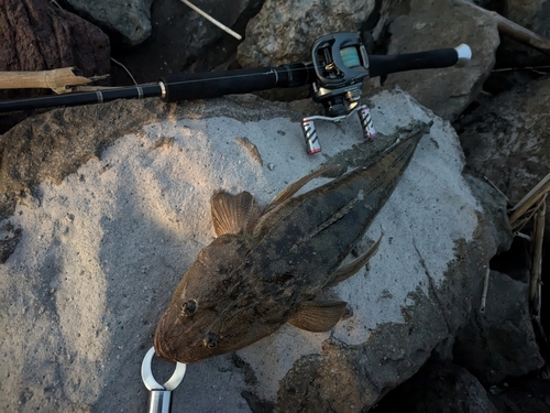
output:
[{"label": "black baitcasting reel with double handle and red-and-white striped knobs", "polygon": [[359,105],[363,80],[370,77],[369,57],[355,33],[332,33],[320,36],[311,48],[317,79],[311,97],[322,104],[326,116],[304,118],[301,129],[308,154],[321,151],[314,120],[338,122],[358,112],[365,139],[376,135],[369,108]]}]

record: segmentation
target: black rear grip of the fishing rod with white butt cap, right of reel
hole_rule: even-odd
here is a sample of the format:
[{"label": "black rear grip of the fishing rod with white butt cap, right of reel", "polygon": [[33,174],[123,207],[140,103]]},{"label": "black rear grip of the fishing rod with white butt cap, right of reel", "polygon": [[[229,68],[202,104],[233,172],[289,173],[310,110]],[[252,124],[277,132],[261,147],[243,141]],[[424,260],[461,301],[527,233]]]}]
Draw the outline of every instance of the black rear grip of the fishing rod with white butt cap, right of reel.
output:
[{"label": "black rear grip of the fishing rod with white butt cap, right of reel", "polygon": [[472,58],[472,50],[468,44],[455,48],[439,48],[435,51],[398,54],[370,55],[370,77],[389,75],[397,72],[408,72],[450,66],[465,66]]}]

